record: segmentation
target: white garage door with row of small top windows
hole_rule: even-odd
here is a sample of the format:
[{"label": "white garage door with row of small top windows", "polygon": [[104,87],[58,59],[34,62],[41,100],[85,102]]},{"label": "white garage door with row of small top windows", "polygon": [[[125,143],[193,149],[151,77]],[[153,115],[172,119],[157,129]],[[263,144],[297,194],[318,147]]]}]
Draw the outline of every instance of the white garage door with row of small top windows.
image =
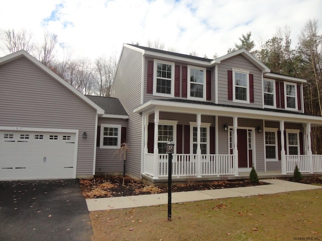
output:
[{"label": "white garage door with row of small top windows", "polygon": [[74,133],[0,131],[0,180],[72,178]]}]

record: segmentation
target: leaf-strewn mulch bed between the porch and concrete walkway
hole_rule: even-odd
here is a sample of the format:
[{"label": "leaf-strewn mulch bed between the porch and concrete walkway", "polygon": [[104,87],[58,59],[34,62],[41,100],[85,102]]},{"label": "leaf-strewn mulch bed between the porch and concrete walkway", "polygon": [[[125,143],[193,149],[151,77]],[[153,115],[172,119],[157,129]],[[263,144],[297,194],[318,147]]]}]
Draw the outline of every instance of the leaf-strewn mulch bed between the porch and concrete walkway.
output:
[{"label": "leaf-strewn mulch bed between the porch and concrete walkway", "polygon": [[[125,177],[123,185],[122,176],[95,177],[93,179],[81,179],[79,182],[81,183],[82,193],[85,198],[122,197],[168,192],[168,186],[146,186],[140,181],[130,177]],[[249,180],[194,182],[173,185],[172,192],[248,187],[266,184],[261,181],[259,183],[253,183]]]}]

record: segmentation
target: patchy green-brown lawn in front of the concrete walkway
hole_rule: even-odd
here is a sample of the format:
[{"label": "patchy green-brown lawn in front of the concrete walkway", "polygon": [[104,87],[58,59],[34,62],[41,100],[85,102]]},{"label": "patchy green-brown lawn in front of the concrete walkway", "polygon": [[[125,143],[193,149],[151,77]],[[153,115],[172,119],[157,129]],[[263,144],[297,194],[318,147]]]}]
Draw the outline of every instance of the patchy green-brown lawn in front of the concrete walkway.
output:
[{"label": "patchy green-brown lawn in front of the concrete walkway", "polygon": [[322,240],[322,189],[90,214],[100,240]]}]

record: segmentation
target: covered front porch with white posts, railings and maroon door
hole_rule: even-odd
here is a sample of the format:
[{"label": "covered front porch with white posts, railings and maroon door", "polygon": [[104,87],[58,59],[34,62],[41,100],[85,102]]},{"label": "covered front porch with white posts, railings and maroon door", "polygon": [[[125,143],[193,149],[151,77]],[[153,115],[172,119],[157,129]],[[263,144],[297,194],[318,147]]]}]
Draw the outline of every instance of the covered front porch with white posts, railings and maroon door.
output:
[{"label": "covered front porch with white posts, railings and maroon door", "polygon": [[[168,154],[163,146],[168,141],[176,144],[172,176],[178,181],[240,179],[245,173],[249,178],[252,166],[265,178],[290,176],[295,165],[302,174],[322,173],[322,156],[313,155],[311,150],[311,125],[322,125],[315,116],[199,103],[180,103],[179,107],[167,101],[156,105],[152,102],[143,105],[140,111],[144,130],[141,173],[146,179],[158,182],[168,178]],[[159,128],[165,124],[174,127],[172,139],[162,134],[166,130]],[[190,136],[185,134],[189,130]],[[168,139],[162,139],[165,137]],[[243,155],[245,162],[241,162]]]}]

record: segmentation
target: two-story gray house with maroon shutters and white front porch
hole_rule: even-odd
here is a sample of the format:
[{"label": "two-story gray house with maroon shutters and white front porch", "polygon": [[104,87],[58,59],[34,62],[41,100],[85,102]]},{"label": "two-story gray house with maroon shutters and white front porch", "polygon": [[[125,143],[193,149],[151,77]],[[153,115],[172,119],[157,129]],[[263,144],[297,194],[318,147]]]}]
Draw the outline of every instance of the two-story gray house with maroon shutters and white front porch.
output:
[{"label": "two-story gray house with maroon shutters and white front porch", "polygon": [[214,60],[124,44],[111,94],[129,114],[127,173],[174,178],[239,176],[251,170],[321,172],[304,113],[306,80],[274,74],[242,49]]}]

